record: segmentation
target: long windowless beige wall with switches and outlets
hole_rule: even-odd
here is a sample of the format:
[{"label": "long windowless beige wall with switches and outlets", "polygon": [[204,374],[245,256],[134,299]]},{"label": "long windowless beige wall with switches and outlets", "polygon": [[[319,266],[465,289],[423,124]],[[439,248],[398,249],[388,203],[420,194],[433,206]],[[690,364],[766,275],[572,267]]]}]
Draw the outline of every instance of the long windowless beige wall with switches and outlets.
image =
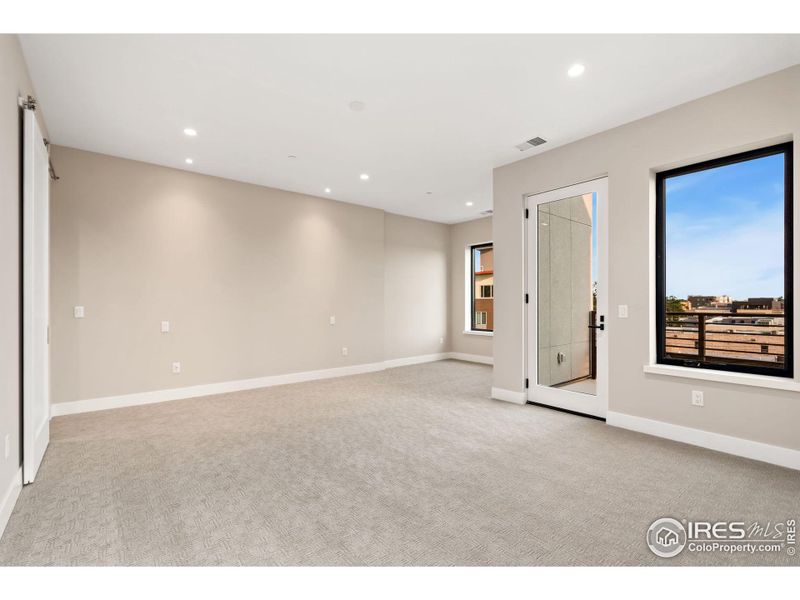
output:
[{"label": "long windowless beige wall with switches and outlets", "polygon": [[442,349],[445,225],[69,148],[53,160],[53,402]]}]

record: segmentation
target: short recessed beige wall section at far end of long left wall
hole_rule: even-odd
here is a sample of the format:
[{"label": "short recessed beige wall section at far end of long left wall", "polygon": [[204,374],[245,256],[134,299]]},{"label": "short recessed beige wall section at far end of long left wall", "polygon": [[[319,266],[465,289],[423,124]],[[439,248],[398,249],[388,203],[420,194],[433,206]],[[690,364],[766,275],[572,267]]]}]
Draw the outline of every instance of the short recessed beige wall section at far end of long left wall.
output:
[{"label": "short recessed beige wall section at far end of long left wall", "polygon": [[386,358],[445,352],[450,227],[385,213]]}]

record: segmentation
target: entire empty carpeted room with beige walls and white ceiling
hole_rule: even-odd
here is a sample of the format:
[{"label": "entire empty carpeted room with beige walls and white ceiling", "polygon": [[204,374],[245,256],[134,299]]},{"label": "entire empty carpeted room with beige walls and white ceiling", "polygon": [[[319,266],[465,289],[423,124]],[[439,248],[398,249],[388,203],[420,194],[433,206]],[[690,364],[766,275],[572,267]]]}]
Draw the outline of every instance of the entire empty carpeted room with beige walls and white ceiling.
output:
[{"label": "entire empty carpeted room with beige walls and white ceiling", "polygon": [[800,35],[0,69],[7,572],[800,564]]}]

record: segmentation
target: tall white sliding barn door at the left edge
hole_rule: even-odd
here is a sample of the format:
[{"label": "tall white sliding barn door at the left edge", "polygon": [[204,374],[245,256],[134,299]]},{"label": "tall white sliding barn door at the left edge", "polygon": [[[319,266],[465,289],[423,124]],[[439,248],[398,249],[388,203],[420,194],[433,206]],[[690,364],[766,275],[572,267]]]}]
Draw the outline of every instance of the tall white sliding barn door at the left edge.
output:
[{"label": "tall white sliding barn door at the left edge", "polygon": [[50,441],[50,161],[33,110],[24,112],[22,474],[23,483],[30,483]]}]

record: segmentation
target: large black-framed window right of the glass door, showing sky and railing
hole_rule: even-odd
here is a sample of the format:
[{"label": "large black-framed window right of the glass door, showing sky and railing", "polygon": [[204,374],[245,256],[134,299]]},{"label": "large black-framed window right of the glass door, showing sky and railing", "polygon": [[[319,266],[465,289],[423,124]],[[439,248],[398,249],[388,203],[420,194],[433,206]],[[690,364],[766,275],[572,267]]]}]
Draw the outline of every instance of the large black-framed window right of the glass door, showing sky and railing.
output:
[{"label": "large black-framed window right of the glass door, showing sky and railing", "polygon": [[656,176],[658,362],[791,377],[792,144]]}]

